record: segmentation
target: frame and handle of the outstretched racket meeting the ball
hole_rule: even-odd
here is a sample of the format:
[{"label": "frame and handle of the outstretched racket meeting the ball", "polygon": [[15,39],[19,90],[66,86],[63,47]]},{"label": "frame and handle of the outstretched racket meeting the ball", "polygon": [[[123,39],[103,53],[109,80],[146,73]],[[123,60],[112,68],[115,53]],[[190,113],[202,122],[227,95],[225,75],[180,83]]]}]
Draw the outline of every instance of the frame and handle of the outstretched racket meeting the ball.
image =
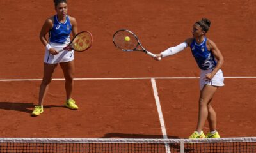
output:
[{"label": "frame and handle of the outstretched racket meeting the ball", "polygon": [[[120,48],[120,47],[118,47],[118,46],[116,45],[116,43],[115,43],[115,41],[114,41],[114,37],[115,37],[115,34],[118,33],[119,31],[127,31],[128,33],[131,33],[131,34],[136,38],[138,44],[136,45],[136,47],[135,47],[134,49],[132,49],[132,50],[125,50],[125,49]],[[150,55],[150,56],[152,56],[152,57],[156,57],[155,54],[152,54],[152,52],[149,52],[148,50],[146,50],[146,49],[141,45],[138,36],[136,36],[136,34],[134,34],[132,31],[129,31],[129,30],[127,30],[127,29],[120,29],[120,30],[116,31],[115,34],[113,35],[113,43],[114,43],[114,45],[115,45],[117,48],[119,48],[120,50],[123,50],[123,51],[126,51],[126,52],[129,52],[129,51],[141,51],[141,52],[144,52],[145,54],[148,54],[148,55]],[[138,49],[139,46],[142,48],[142,50]]]}]

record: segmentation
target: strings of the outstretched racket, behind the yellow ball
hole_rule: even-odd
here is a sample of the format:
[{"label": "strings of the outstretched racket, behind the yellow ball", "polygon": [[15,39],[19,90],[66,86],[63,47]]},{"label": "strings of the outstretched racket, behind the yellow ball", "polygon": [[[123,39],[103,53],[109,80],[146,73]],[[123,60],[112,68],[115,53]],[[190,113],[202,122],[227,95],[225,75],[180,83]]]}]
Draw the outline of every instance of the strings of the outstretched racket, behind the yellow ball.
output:
[{"label": "strings of the outstretched racket, behind the yellow ball", "polygon": [[[125,40],[125,37],[129,37],[129,40]],[[113,36],[113,41],[116,47],[122,50],[134,50],[138,46],[138,40],[134,34],[128,31],[118,31]]]}]

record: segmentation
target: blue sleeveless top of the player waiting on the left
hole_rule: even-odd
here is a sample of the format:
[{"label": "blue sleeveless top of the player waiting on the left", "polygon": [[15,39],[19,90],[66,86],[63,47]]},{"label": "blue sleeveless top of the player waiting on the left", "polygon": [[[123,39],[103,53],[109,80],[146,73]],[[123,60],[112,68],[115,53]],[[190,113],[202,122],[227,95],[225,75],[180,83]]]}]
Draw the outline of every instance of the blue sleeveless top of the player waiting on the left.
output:
[{"label": "blue sleeveless top of the player waiting on the left", "polygon": [[54,23],[52,29],[49,31],[49,41],[51,43],[66,44],[70,42],[70,33],[72,25],[66,15],[66,21],[61,23],[58,21],[57,15],[54,15]]}]

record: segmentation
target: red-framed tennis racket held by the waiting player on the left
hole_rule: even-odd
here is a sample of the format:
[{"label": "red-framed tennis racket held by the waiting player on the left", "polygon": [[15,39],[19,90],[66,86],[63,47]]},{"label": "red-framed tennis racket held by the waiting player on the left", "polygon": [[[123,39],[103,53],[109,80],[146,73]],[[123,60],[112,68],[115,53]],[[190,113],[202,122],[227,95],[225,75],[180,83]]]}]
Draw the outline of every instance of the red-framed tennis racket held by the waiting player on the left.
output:
[{"label": "red-framed tennis racket held by the waiting player on the left", "polygon": [[77,52],[83,52],[92,46],[92,41],[92,34],[89,31],[81,31],[74,36],[67,47],[64,47],[58,52],[62,52],[63,50],[75,50]]}]

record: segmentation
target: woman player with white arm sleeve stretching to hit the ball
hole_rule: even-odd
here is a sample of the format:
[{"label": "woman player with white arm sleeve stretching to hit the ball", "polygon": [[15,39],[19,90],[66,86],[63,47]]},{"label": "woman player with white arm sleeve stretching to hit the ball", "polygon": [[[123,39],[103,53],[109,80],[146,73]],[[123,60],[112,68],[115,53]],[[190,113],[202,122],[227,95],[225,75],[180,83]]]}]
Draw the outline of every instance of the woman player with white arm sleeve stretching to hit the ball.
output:
[{"label": "woman player with white arm sleeve stretching to hit the ball", "polygon": [[[200,68],[198,122],[195,131],[189,138],[220,138],[216,130],[216,112],[212,108],[211,102],[218,87],[224,85],[224,77],[220,69],[224,58],[216,44],[205,36],[210,25],[210,20],[202,18],[202,20],[193,25],[192,38],[188,38],[183,43],[164,50],[161,54],[156,54],[154,58],[160,61],[163,57],[177,54],[186,47],[190,47],[192,55]],[[205,136],[202,128],[206,120],[209,122],[210,130]]]}]

